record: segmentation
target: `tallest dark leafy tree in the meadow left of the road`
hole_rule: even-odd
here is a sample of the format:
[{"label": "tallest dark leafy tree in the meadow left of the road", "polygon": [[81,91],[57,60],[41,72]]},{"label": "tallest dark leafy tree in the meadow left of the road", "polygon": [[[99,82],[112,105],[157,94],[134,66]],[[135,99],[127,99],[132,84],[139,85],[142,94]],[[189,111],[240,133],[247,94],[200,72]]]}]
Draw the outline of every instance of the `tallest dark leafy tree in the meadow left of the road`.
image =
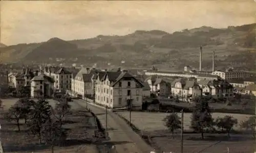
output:
[{"label": "tallest dark leafy tree in the meadow left of the road", "polygon": [[45,99],[38,99],[32,106],[28,127],[32,134],[37,135],[41,143],[41,131],[47,120],[51,117],[51,106]]}]

